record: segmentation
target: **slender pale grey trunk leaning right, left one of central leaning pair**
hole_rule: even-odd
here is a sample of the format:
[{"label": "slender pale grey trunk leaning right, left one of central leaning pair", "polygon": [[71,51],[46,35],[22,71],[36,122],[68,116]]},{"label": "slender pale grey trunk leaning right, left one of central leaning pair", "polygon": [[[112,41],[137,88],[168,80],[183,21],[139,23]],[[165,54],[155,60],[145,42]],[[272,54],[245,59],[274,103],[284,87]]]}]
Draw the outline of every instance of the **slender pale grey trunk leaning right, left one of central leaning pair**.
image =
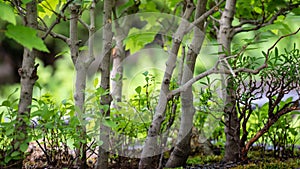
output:
[{"label": "slender pale grey trunk leaning right, left one of central leaning pair", "polygon": [[[193,2],[190,0],[187,1],[187,7],[184,12],[183,18],[188,19],[191,16],[194,8],[195,7]],[[161,129],[161,123],[163,122],[165,117],[165,110],[168,102],[167,94],[169,93],[169,85],[176,65],[178,50],[187,26],[188,26],[188,22],[182,20],[176,33],[174,34],[172,49],[170,51],[170,55],[166,63],[166,70],[161,85],[158,105],[156,106],[155,114],[152,123],[150,125],[150,128],[148,130],[148,135],[145,141],[145,145],[141,155],[141,160],[139,163],[139,169],[152,169],[157,165],[154,157],[159,155],[161,152],[161,149],[157,144],[159,138],[158,134]]]}]

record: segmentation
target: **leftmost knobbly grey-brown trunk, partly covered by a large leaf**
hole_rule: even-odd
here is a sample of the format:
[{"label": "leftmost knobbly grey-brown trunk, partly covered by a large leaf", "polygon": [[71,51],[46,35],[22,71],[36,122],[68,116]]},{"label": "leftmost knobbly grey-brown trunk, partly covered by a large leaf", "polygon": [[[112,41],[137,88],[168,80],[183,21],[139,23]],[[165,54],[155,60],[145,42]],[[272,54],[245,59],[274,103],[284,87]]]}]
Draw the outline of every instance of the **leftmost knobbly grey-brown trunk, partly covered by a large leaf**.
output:
[{"label": "leftmost knobbly grey-brown trunk, partly covered by a large leaf", "polygon": [[[26,4],[26,20],[24,24],[30,28],[37,29],[37,3],[35,0]],[[23,152],[20,149],[21,143],[26,142],[27,139],[27,122],[30,118],[30,105],[32,103],[32,92],[33,86],[38,79],[37,67],[35,64],[35,58],[38,55],[38,51],[32,49],[31,51],[24,48],[22,67],[18,70],[21,77],[21,93],[18,105],[18,115],[17,121],[18,126],[16,126],[16,131],[22,133],[22,135],[17,134],[15,140],[13,140],[14,145],[19,145],[15,148],[15,151],[19,151],[21,154]],[[24,135],[23,135],[24,134]],[[16,168],[22,168],[22,159],[16,163]]]}]

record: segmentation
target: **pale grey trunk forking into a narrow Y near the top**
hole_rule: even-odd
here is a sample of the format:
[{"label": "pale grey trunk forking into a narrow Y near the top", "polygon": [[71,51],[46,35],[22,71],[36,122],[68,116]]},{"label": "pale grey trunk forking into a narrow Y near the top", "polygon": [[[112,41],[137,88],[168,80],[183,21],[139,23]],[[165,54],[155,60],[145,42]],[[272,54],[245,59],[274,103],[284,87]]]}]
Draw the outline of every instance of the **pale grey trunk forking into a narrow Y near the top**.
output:
[{"label": "pale grey trunk forking into a narrow Y near the top", "polygon": [[[76,112],[80,120],[85,120],[83,114],[85,113],[85,90],[86,90],[86,79],[87,70],[94,60],[93,46],[94,46],[94,32],[95,32],[95,1],[91,3],[90,7],[90,25],[89,29],[89,40],[88,40],[88,51],[82,52],[79,55],[79,40],[78,40],[78,21],[79,21],[79,9],[80,6],[76,4],[70,5],[71,19],[70,19],[70,51],[71,58],[76,70],[75,79],[75,106],[80,112]],[[86,128],[81,126],[77,129],[81,133],[81,139],[86,138]],[[81,147],[77,150],[77,155],[80,159],[77,160],[77,164],[81,168],[87,168],[86,164],[86,144],[82,143]]]}]

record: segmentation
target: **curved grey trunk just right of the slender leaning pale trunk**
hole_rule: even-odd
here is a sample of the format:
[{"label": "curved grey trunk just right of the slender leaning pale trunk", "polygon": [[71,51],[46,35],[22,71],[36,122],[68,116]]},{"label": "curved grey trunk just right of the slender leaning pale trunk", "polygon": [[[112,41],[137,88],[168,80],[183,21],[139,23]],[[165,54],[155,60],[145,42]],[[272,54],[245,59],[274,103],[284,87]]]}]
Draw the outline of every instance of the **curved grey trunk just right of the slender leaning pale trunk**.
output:
[{"label": "curved grey trunk just right of the slender leaning pale trunk", "polygon": [[[199,18],[206,11],[207,0],[198,1],[196,7],[195,18]],[[194,37],[192,44],[188,50],[186,57],[186,64],[184,66],[182,84],[193,78],[195,63],[197,55],[199,54],[202,46],[204,36],[204,21],[200,22],[194,28]],[[193,105],[193,91],[192,86],[186,91],[181,92],[181,123],[179,129],[179,136],[174,151],[166,164],[166,167],[179,167],[186,163],[186,160],[190,153],[190,140],[192,134],[193,117],[195,114],[195,108]]]}]

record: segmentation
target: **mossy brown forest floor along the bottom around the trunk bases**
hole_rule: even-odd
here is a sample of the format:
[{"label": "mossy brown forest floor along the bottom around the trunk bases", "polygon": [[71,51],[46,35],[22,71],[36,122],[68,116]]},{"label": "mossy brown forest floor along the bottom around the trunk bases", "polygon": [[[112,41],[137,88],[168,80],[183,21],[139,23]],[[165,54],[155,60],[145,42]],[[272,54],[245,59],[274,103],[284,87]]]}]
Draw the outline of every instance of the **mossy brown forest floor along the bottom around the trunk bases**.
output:
[{"label": "mossy brown forest floor along the bottom around the trunk bases", "polygon": [[[34,142],[29,144],[28,156],[23,161],[24,169],[80,168],[74,165],[76,163],[74,151],[68,150],[67,147],[47,148],[46,150],[41,147]],[[163,164],[166,162],[168,156],[169,152],[166,152]],[[88,153],[87,157],[89,168],[94,168],[97,155],[95,153]],[[186,166],[179,167],[178,169],[300,169],[300,148],[296,148],[293,151],[286,151],[285,153],[266,151],[261,148],[252,149],[248,153],[248,160],[238,163],[226,163],[222,162],[222,159],[222,155],[201,155],[194,153],[188,158]],[[109,159],[109,169],[137,169],[138,164],[138,158],[111,155]]]}]

